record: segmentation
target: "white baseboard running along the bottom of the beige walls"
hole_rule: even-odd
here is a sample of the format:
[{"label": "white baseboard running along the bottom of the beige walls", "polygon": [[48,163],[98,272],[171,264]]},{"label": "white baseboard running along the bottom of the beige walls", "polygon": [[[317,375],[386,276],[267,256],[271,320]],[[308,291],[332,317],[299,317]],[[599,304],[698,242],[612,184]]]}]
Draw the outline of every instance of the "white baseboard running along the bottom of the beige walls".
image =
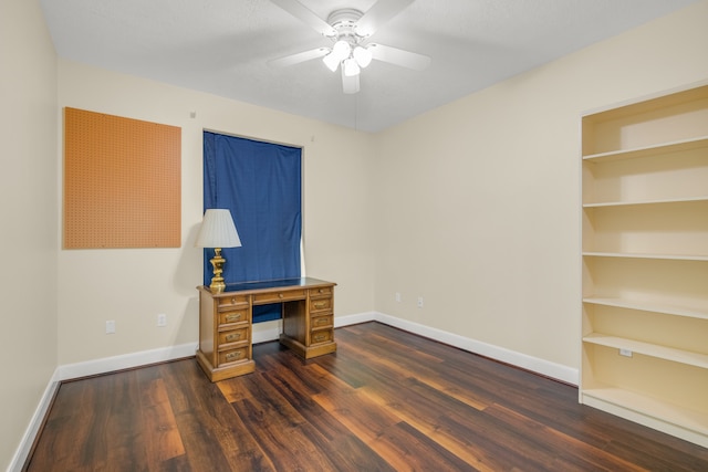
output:
[{"label": "white baseboard running along the bottom of the beige walls", "polygon": [[[409,333],[428,337],[440,343],[449,344],[469,353],[479,354],[490,357],[502,363],[511,364],[546,377],[559,379],[568,384],[577,385],[577,369],[540,359],[538,357],[528,356],[522,353],[506,349],[503,347],[493,346],[472,338],[464,337],[457,334],[448,333],[441,329],[431,328],[407,319],[397,318],[377,312],[360,313],[354,315],[339,316],[334,318],[334,326],[342,327],[355,325],[366,322],[379,322],[393,327],[397,327]],[[273,326],[267,326],[264,329],[253,333],[253,343],[266,343],[278,339],[280,336],[280,323],[273,323]],[[194,356],[198,345],[196,343],[183,344],[179,346],[169,346],[158,349],[144,350],[140,353],[125,354],[122,356],[105,357],[102,359],[87,360],[85,363],[67,364],[59,366],[54,371],[54,376],[50,380],[42,399],[34,411],[30,426],[18,448],[8,471],[20,471],[27,455],[30,452],[34,437],[37,436],[46,410],[52,401],[54,392],[62,380],[70,380],[79,377],[111,373],[114,370],[128,369],[133,367],[179,359],[183,357]]]}]

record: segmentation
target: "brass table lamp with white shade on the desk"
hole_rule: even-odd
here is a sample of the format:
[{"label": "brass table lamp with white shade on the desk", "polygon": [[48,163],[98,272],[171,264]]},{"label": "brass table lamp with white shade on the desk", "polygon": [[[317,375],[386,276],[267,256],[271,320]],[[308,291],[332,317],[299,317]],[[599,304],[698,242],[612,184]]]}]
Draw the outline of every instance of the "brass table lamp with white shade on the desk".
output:
[{"label": "brass table lamp with white shade on the desk", "polygon": [[211,293],[221,293],[226,283],[221,273],[226,259],[221,256],[221,248],[240,248],[241,240],[231,219],[231,212],[227,209],[210,208],[204,213],[204,222],[195,242],[197,248],[214,248],[214,258],[210,260],[214,268],[214,277],[209,290]]}]

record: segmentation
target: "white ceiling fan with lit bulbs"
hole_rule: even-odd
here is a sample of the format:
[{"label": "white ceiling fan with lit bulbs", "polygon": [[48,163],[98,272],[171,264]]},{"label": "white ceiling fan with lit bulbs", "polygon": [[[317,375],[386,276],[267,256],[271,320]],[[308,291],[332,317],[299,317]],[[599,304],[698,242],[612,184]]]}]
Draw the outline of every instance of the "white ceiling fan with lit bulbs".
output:
[{"label": "white ceiling fan with lit bulbs", "polygon": [[372,60],[423,71],[430,57],[367,40],[386,21],[394,18],[414,0],[378,0],[366,12],[345,8],[334,10],[326,21],[298,0],[271,0],[274,4],[329,38],[332,46],[323,46],[269,61],[275,66],[288,66],[322,57],[332,72],[342,72],[342,88],[346,94],[360,91],[358,75]]}]

